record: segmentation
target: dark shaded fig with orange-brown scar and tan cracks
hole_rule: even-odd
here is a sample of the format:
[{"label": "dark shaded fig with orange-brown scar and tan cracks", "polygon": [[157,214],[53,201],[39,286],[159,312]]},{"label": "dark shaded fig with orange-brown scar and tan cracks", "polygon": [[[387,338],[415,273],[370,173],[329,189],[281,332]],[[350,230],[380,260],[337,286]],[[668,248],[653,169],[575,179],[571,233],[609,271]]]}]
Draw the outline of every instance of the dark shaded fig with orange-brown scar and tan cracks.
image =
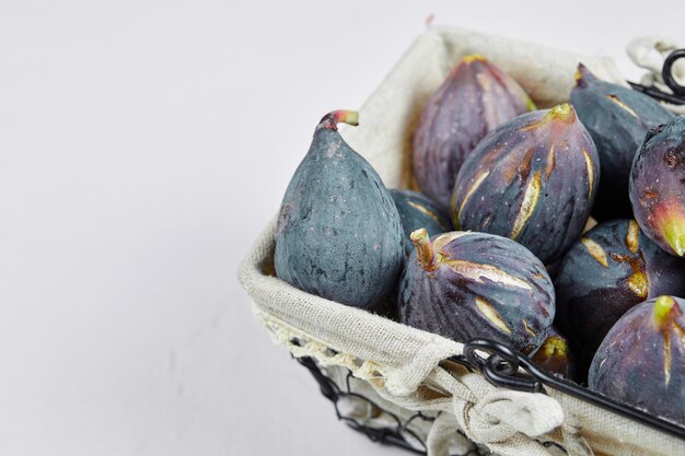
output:
[{"label": "dark shaded fig with orange-brown scar and tan cracks", "polygon": [[588,365],[630,308],[661,294],[685,295],[684,277],[685,260],[659,248],[635,220],[601,223],[571,246],[559,267],[556,324]]}]

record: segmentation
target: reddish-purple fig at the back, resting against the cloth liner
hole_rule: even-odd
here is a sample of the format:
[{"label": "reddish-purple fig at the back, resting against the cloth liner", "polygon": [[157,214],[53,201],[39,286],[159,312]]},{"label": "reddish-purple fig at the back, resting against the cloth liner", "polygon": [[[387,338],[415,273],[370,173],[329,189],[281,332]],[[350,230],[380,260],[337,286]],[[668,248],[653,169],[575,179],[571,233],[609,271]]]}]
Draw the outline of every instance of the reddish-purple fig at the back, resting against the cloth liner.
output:
[{"label": "reddish-purple fig at the back, resting against the cloth liner", "polygon": [[449,210],[454,177],[488,131],[535,105],[483,56],[467,56],[432,95],[414,133],[414,172],[423,194]]}]

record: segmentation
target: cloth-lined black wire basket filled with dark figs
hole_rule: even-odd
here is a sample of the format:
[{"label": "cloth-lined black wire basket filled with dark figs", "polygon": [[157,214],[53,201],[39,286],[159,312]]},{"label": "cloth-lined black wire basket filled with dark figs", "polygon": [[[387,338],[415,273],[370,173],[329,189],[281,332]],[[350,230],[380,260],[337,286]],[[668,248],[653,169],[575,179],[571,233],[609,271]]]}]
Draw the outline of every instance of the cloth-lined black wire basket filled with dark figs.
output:
[{"label": "cloth-lined black wire basket filled with dark figs", "polygon": [[313,117],[239,270],[255,316],[374,441],[685,455],[685,117],[661,83],[428,30],[360,109]]}]

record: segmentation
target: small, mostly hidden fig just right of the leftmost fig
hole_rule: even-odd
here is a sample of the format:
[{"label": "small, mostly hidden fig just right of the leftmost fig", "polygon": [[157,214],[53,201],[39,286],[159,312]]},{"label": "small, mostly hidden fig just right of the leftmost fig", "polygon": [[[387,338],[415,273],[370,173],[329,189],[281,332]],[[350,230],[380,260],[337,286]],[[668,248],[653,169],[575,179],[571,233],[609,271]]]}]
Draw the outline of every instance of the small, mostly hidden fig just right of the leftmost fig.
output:
[{"label": "small, mostly hidden fig just right of the leftmost fig", "polygon": [[420,227],[428,231],[428,235],[432,236],[450,231],[450,219],[426,196],[411,190],[393,188],[390,194],[397,206],[402,227],[405,233],[405,254],[409,256],[414,250],[414,245],[409,236],[411,232]]}]

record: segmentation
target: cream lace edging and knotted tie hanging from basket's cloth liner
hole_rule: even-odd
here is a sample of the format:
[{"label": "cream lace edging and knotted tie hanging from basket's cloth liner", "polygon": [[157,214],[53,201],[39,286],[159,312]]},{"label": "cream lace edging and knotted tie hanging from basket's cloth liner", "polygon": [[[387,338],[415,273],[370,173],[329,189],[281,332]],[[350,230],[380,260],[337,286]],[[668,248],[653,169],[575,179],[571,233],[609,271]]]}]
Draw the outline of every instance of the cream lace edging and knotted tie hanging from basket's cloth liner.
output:
[{"label": "cream lace edging and knotted tie hanging from basket's cloth liner", "polygon": [[[549,442],[555,441],[559,442],[559,448],[573,443],[573,447],[585,451],[566,451],[572,456],[592,455],[587,453],[589,446],[576,429],[565,431],[561,426],[565,418],[561,406],[545,394],[497,388],[476,373],[465,373],[456,378],[445,367],[436,366],[416,391],[395,396],[388,393],[386,381],[400,370],[337,352],[279,318],[257,308],[254,313],[274,342],[287,347],[293,356],[313,359],[324,369],[345,367],[356,378],[368,382],[379,397],[406,410],[438,412],[426,435],[427,451],[431,456],[448,456],[457,433],[503,456],[552,455]],[[561,431],[555,434],[557,428]]]}]

